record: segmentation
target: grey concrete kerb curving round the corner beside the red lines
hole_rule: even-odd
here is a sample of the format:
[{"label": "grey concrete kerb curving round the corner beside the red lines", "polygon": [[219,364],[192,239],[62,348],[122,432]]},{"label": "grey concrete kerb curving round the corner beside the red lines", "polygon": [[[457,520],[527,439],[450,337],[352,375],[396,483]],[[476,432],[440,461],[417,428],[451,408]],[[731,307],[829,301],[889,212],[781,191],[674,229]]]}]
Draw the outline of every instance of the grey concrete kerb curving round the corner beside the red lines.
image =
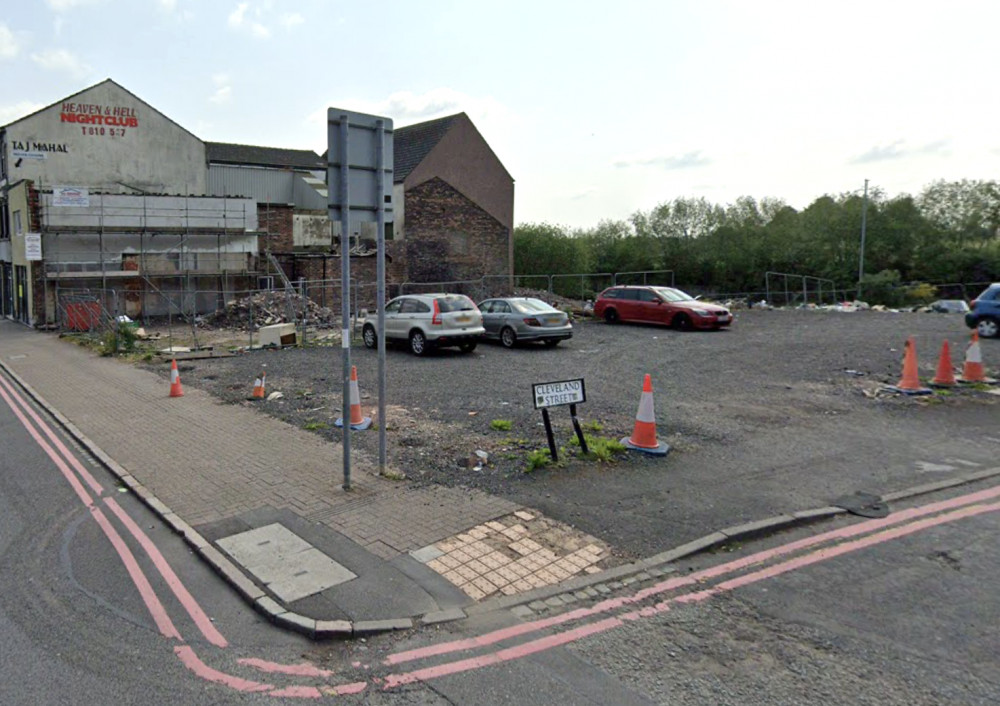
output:
[{"label": "grey concrete kerb curving round the corner beside the red lines", "polygon": [[[667,566],[668,564],[679,561],[680,559],[694,556],[695,554],[700,554],[724,544],[756,538],[764,534],[771,534],[780,530],[810,524],[818,520],[824,520],[836,515],[847,513],[847,510],[844,508],[831,505],[809,510],[801,510],[790,514],[776,515],[763,520],[734,525],[704,535],[703,537],[695,539],[691,542],[682,544],[679,547],[660,554],[655,554],[646,559],[640,559],[630,564],[616,566],[595,574],[578,576],[558,585],[537,588],[514,596],[503,596],[500,598],[486,600],[469,606],[464,610],[453,609],[449,611],[434,611],[423,616],[406,616],[386,620],[316,620],[298,613],[287,611],[280,603],[268,597],[264,590],[253,583],[239,567],[211,546],[211,543],[208,542],[208,540],[187,525],[187,523],[183,522],[183,520],[170,510],[170,508],[150,493],[145,486],[139,483],[126,469],[122,468],[117,462],[115,462],[114,459],[105,454],[104,451],[97,446],[97,444],[84,435],[76,426],[60,414],[58,410],[51,407],[45,399],[41,397],[41,395],[35,392],[30,385],[14,373],[14,371],[12,371],[3,361],[0,361],[0,368],[2,368],[4,372],[36,402],[36,404],[52,416],[52,418],[55,419],[70,436],[76,439],[81,446],[83,446],[90,454],[100,461],[102,465],[111,471],[111,473],[117,477],[121,483],[132,490],[136,496],[150,508],[150,510],[156,513],[164,522],[174,529],[175,532],[181,535],[185,542],[191,545],[197,554],[204,561],[206,561],[213,568],[213,570],[216,571],[216,573],[225,579],[226,582],[232,586],[233,589],[235,589],[236,592],[255,610],[263,613],[276,625],[295,630],[296,632],[300,632],[312,639],[362,636],[395,630],[408,630],[412,628],[415,623],[421,625],[434,625],[453,620],[461,620],[472,615],[480,615],[497,610],[514,608],[520,608],[521,612],[518,615],[520,615],[520,617],[524,617],[527,614],[525,608],[530,607],[529,604],[551,607],[551,605],[546,604],[545,601],[557,599],[553,600],[553,604],[566,605],[567,603],[575,601],[576,597],[573,596],[573,594],[581,590],[591,589],[596,586],[598,587],[599,593],[604,593],[604,591],[600,591],[599,588],[608,582],[630,585],[639,580],[636,577],[640,574],[645,574],[647,577],[662,576],[666,573],[672,573],[675,570],[673,567]],[[950,488],[956,488],[962,485],[968,485],[970,483],[986,480],[988,478],[995,478],[997,476],[1000,476],[1000,467],[988,468],[981,471],[972,471],[947,480],[925,483],[923,485],[914,486],[905,490],[887,493],[882,496],[882,500],[886,502],[906,500],[920,495],[926,495],[942,490],[948,490]],[[619,579],[624,580],[619,581]],[[647,579],[644,578],[642,580]],[[560,598],[560,596],[563,595],[569,596],[569,599],[564,600],[563,598]]]}]

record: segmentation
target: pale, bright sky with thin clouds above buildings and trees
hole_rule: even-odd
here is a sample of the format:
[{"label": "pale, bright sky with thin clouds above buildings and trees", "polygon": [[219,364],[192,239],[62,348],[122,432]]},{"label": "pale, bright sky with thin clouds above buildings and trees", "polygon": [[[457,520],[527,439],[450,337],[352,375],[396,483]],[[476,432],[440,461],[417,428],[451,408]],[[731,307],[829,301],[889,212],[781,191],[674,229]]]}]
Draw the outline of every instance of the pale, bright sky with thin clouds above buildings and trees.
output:
[{"label": "pale, bright sky with thin clouds above buildings and trees", "polygon": [[519,224],[1000,179],[996,0],[4,6],[0,125],[106,78],[203,140],[318,153],[330,107],[465,112]]}]

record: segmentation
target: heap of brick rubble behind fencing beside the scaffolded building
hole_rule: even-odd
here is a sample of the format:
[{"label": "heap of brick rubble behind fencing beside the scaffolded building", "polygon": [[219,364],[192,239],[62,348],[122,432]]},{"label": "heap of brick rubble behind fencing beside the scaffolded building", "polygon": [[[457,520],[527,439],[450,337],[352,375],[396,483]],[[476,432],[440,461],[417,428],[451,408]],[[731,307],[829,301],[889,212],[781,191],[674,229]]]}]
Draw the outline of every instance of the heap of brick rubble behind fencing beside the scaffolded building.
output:
[{"label": "heap of brick rubble behind fencing beside the scaffolded building", "polygon": [[[251,321],[251,313],[253,320]],[[291,318],[289,318],[291,316]],[[340,312],[333,311],[298,293],[284,291],[258,292],[234,299],[213,314],[202,317],[198,325],[204,328],[239,328],[254,330],[261,326],[303,323],[315,328],[336,328]]]}]

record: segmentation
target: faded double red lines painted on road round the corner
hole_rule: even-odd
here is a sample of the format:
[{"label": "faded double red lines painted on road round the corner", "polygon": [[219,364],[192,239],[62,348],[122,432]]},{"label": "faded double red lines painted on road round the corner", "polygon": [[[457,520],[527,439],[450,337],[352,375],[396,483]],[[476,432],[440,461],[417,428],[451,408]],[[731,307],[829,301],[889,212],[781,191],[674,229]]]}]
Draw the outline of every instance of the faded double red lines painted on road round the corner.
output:
[{"label": "faded double red lines painted on road round the corner", "polygon": [[[823,532],[683,577],[669,578],[631,595],[603,600],[589,608],[571,610],[561,615],[521,623],[476,637],[396,652],[376,665],[357,665],[361,667],[364,676],[354,682],[317,685],[316,681],[328,681],[331,678],[336,678],[336,674],[318,669],[310,664],[285,665],[256,658],[239,660],[241,664],[265,673],[310,679],[314,682],[313,684],[277,687],[216,670],[205,664],[190,645],[184,644],[184,639],[170,619],[132,551],[99,507],[97,501],[101,501],[103,505],[108,507],[146,552],[202,637],[218,648],[226,648],[228,641],[184,587],[153,541],[128,516],[114,498],[103,495],[104,489],[101,484],[79,462],[76,456],[70,453],[55,431],[38,416],[3,376],[0,376],[0,399],[7,403],[34,441],[66,478],[77,497],[90,510],[91,516],[107,536],[108,541],[111,542],[135,583],[157,629],[164,637],[180,643],[174,647],[174,653],[180,661],[193,673],[208,681],[223,684],[237,691],[267,692],[273,696],[316,698],[324,695],[358,693],[369,686],[391,689],[417,681],[460,674],[494,664],[522,659],[553,647],[620,628],[629,622],[660,615],[677,604],[703,601],[712,596],[905,537],[931,527],[1000,510],[1000,501],[997,500],[1000,498],[1000,487],[902,510],[886,518],[868,520]],[[93,496],[84,484],[90,488]],[[97,501],[95,501],[95,497]],[[753,570],[746,571],[748,569]],[[577,622],[582,624],[558,631],[561,627],[568,626],[569,623]],[[553,630],[556,631],[553,632]],[[549,634],[532,637],[543,632]],[[514,644],[501,646],[501,643]],[[462,656],[470,652],[477,654]],[[437,663],[427,664],[431,661]],[[423,663],[426,666],[419,666],[409,671],[391,671],[399,665],[410,663]],[[385,676],[375,676],[374,671],[388,671],[389,673]]]}]

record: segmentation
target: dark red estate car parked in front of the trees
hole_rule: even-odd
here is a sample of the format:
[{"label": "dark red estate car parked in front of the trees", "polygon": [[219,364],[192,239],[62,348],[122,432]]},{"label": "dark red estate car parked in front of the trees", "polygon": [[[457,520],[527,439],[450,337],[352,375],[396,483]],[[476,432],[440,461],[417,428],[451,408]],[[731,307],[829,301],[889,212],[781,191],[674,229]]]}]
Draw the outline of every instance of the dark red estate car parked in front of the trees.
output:
[{"label": "dark red estate car parked in front of the trees", "polygon": [[609,324],[637,321],[676,329],[718,329],[733,315],[724,306],[698,301],[673,287],[609,287],[594,303],[594,315]]}]

